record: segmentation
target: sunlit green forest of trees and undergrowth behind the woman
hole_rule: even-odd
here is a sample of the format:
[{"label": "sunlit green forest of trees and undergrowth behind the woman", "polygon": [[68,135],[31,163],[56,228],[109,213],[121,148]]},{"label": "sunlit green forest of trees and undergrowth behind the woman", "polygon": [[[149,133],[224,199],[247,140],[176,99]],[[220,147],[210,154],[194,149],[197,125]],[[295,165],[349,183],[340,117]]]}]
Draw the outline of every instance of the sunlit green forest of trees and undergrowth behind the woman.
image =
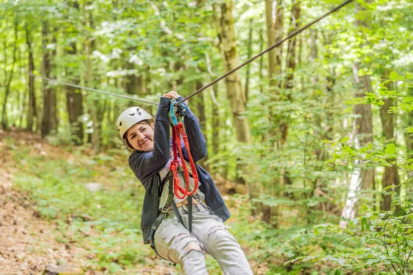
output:
[{"label": "sunlit green forest of trees and undergrowth behind the woman", "polygon": [[[115,128],[128,106],[156,106],[36,76],[155,102],[186,96],[339,3],[2,0],[1,144],[14,190],[59,242],[86,249],[83,268],[156,269],[141,243],[143,187]],[[412,272],[412,30],[411,1],[353,1],[189,100],[209,147],[200,164],[255,273]],[[42,143],[22,141],[27,132]]]}]

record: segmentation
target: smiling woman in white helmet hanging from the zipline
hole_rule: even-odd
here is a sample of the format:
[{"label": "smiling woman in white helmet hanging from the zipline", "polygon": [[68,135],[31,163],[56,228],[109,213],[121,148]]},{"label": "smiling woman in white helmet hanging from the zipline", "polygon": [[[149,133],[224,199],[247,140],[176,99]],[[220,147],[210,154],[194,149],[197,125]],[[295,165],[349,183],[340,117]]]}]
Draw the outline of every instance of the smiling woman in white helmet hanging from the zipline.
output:
[{"label": "smiling woman in white helmet hanging from the zipline", "polygon": [[[209,173],[195,165],[199,188],[193,198],[178,198],[171,191],[171,99],[180,101],[182,96],[173,91],[164,94],[155,120],[134,107],[120,114],[116,123],[123,141],[134,150],[129,156],[129,166],[145,187],[140,226],[143,241],[150,243],[160,257],[179,263],[183,274],[207,274],[206,252],[218,261],[224,274],[253,274],[240,245],[226,230],[223,221],[229,218],[229,210]],[[196,163],[207,154],[207,146],[198,119],[186,104],[185,107],[184,125]],[[178,161],[181,164],[189,161],[185,147]],[[182,173],[178,176],[180,185],[185,187]],[[193,190],[193,179],[189,179],[189,185]],[[169,195],[173,196],[171,202],[167,199]]]}]

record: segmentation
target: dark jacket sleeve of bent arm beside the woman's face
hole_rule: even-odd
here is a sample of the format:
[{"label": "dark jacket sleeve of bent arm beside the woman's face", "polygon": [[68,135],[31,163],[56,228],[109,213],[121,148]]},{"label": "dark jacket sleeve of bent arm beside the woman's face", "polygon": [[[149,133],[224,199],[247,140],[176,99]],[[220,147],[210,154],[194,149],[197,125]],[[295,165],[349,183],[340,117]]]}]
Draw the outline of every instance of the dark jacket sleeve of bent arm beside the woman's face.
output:
[{"label": "dark jacket sleeve of bent arm beside the woman's face", "polygon": [[[164,167],[171,156],[169,145],[169,98],[161,97],[156,112],[155,130],[153,133],[153,151],[134,151],[129,156],[129,167],[145,186],[146,179]],[[147,186],[145,186],[145,189]]]}]

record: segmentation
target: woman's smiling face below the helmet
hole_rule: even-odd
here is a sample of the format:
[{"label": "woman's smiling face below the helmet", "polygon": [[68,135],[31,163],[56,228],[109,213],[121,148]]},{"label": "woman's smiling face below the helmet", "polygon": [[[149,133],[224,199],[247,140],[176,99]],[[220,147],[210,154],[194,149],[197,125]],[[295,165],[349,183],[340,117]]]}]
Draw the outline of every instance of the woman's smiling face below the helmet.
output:
[{"label": "woman's smiling face below the helmet", "polygon": [[146,122],[140,122],[133,125],[126,132],[127,141],[135,150],[151,152],[153,151],[153,128],[154,125],[150,125]]}]

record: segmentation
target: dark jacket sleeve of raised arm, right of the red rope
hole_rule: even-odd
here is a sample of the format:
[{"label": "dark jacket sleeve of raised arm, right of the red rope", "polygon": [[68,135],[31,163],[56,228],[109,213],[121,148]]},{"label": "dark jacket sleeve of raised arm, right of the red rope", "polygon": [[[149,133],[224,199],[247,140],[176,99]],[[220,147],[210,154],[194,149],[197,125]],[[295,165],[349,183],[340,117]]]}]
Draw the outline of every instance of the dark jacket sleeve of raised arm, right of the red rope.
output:
[{"label": "dark jacket sleeve of raised arm, right of the red rope", "polygon": [[[180,101],[182,97],[176,100]],[[203,159],[204,156],[207,156],[207,141],[204,138],[204,134],[202,134],[201,125],[197,117],[193,114],[187,103],[184,103],[184,105],[187,108],[187,114],[184,118],[184,128],[187,132],[192,159],[194,162],[197,162]],[[184,141],[182,139],[181,141],[183,157],[189,161],[187,148],[184,145]]]}]

